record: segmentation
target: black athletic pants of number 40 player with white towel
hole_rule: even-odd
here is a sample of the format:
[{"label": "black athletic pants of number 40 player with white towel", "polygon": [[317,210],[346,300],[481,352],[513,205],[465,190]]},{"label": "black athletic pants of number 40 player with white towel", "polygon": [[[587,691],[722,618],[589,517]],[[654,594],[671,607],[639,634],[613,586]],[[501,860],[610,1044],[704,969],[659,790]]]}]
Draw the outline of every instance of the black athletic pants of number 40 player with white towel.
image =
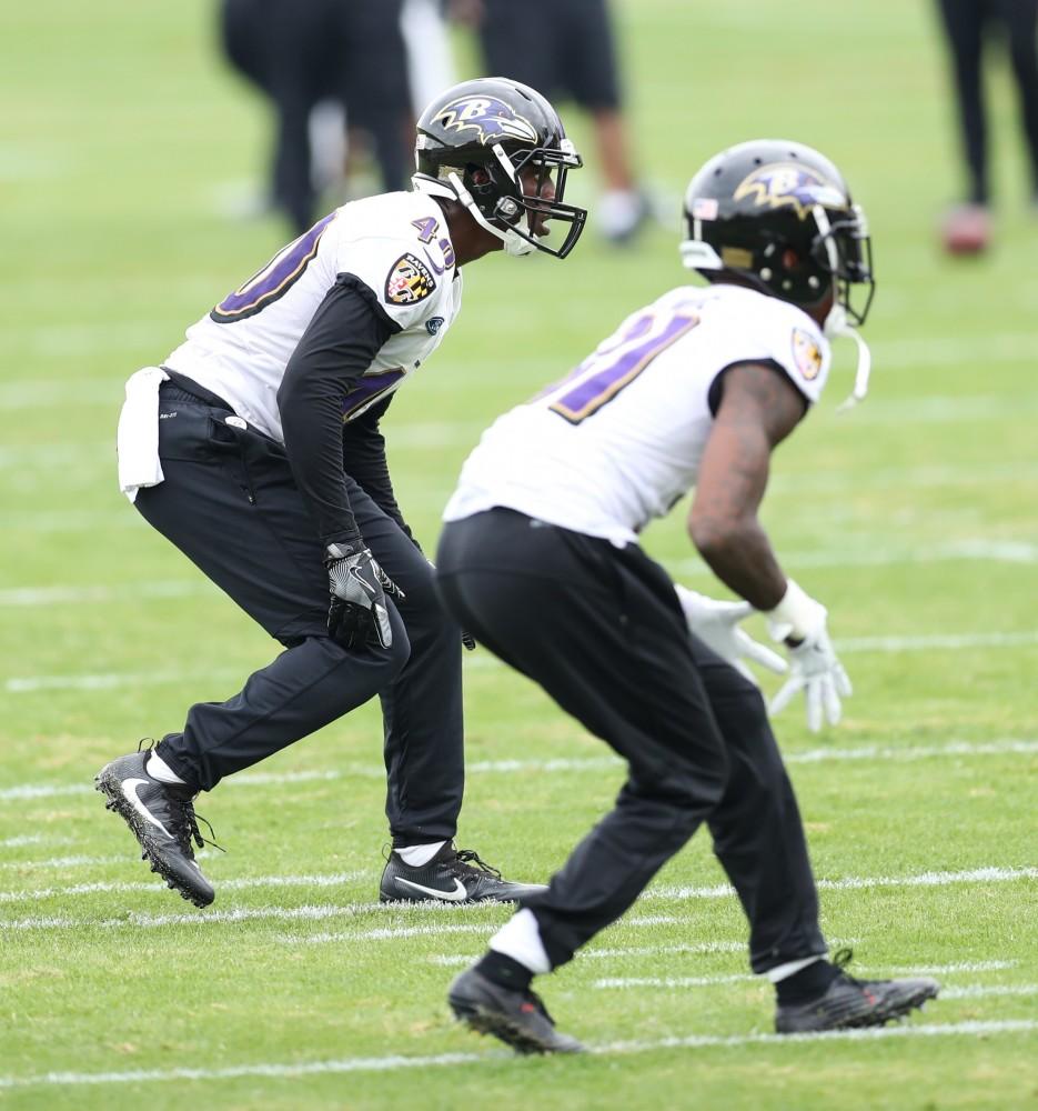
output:
[{"label": "black athletic pants of number 40 player with white towel", "polygon": [[141,490],[137,507],[286,650],[228,701],[191,707],[183,732],[167,735],[159,753],[187,782],[211,790],[380,694],[395,843],[452,838],[464,788],[461,632],[440,607],[429,562],[351,483],[364,541],[406,600],[389,603],[389,649],[331,640],[324,553],[284,448],[228,424],[229,416],[204,390],[163,383],[165,480]]}]

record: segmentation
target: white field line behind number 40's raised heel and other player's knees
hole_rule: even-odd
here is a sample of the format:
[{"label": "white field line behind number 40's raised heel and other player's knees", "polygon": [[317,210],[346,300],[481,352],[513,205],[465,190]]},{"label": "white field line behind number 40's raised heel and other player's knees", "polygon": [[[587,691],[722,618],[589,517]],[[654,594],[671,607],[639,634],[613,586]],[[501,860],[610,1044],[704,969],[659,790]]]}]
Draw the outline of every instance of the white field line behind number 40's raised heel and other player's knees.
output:
[{"label": "white field line behind number 40's raised heel and other player's knees", "polygon": [[[804,752],[787,752],[784,760],[787,764],[824,763],[828,761],[914,761],[944,759],[947,757],[994,757],[1019,754],[1030,755],[1038,752],[1038,740],[1007,738],[989,742],[949,741],[947,744],[908,744],[904,748],[878,747],[863,744],[853,749],[834,749],[826,745],[807,749]],[[502,774],[514,772],[564,772],[595,771],[623,767],[617,757],[564,757],[550,760],[473,760],[466,765],[470,774]],[[285,783],[330,782],[341,779],[364,778],[382,779],[385,769],[377,764],[347,764],[345,768],[330,768],[323,771],[289,771],[289,772],[252,772],[244,771],[231,775],[223,781],[221,790],[226,787],[268,787]],[[14,787],[0,788],[0,802],[14,802],[23,799],[48,799],[53,797],[93,794],[90,783],[20,783]],[[0,842],[2,843],[2,842]],[[27,842],[28,843],[28,842]],[[29,861],[24,861],[29,863]]]}]

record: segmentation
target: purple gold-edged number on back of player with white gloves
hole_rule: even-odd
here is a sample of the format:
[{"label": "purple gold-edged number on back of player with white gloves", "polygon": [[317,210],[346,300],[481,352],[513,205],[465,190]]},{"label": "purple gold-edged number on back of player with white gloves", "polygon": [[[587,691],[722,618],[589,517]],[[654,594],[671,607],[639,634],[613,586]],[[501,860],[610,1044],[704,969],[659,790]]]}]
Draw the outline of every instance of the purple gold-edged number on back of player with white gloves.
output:
[{"label": "purple gold-edged number on back of player with white gloves", "polygon": [[580,424],[608,404],[661,351],[698,323],[699,318],[688,309],[678,308],[663,316],[639,312],[599,343],[573,373],[541,396],[553,398],[548,406],[552,412],[571,424]]}]

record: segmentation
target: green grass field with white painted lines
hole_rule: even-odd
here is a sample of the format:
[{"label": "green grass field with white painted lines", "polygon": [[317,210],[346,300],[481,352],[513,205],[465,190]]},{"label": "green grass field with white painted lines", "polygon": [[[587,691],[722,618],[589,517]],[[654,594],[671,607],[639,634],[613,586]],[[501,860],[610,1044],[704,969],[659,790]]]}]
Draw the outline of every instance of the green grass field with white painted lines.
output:
[{"label": "green grass field with white painted lines", "polygon": [[[444,1002],[507,911],[375,902],[375,707],[200,800],[230,850],[204,862],[204,912],[150,882],[91,789],[103,762],[273,655],[118,493],[113,431],[128,374],[284,231],[221,211],[229,187],[259,184],[266,119],[216,58],[213,6],[14,8],[0,8],[0,1105],[1035,1107],[1038,210],[1006,73],[991,74],[997,247],[951,264],[935,227],[959,170],[929,3],[618,0],[641,161],[675,198],[673,226],[629,252],[589,231],[565,263],[473,267],[456,328],[393,407],[397,496],[432,550],[480,430],[684,280],[676,199],[715,149],[808,141],[868,209],[871,397],[836,414],[854,364],[837,348],[765,512],[829,607],[855,695],[820,738],[800,705],[776,728],[828,935],[865,974],[935,970],[944,995],[877,1037],[772,1037],[701,833],[544,984],[596,1052],[526,1060]],[[593,201],[589,134],[571,130]],[[711,590],[683,516],[646,546]],[[485,652],[466,661],[466,700],[458,842],[543,879],[622,768]]]}]

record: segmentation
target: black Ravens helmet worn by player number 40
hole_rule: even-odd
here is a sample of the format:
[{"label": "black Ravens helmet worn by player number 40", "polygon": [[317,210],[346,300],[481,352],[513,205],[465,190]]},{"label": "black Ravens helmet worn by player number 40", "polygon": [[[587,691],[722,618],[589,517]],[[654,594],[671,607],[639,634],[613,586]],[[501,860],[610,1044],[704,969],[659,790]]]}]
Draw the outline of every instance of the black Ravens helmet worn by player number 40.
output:
[{"label": "black Ravens helmet worn by player number 40", "polygon": [[[517,81],[478,78],[441,93],[419,118],[414,162],[415,189],[461,201],[510,254],[536,249],[563,259],[584,230],[587,210],[562,202],[566,173],[583,164],[581,156],[555,109]],[[536,188],[524,191],[520,172],[528,167],[537,170]],[[552,200],[540,197],[548,179]],[[534,217],[568,224],[561,246],[530,230]]]}]

